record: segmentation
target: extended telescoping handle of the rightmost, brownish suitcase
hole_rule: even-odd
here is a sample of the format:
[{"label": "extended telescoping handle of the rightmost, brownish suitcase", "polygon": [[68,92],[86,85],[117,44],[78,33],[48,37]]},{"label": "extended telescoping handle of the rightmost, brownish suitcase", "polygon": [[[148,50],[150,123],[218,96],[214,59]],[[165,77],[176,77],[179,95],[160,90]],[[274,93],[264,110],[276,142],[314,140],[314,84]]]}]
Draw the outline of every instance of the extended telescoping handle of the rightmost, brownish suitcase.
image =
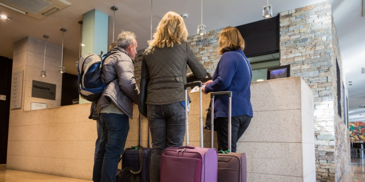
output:
[{"label": "extended telescoping handle of the rightmost, brownish suitcase", "polygon": [[231,104],[232,104],[232,92],[212,92],[211,93],[211,148],[213,148],[213,134],[214,134],[214,97],[218,95],[228,95],[228,150],[231,151],[232,140],[232,123],[231,123]]}]

